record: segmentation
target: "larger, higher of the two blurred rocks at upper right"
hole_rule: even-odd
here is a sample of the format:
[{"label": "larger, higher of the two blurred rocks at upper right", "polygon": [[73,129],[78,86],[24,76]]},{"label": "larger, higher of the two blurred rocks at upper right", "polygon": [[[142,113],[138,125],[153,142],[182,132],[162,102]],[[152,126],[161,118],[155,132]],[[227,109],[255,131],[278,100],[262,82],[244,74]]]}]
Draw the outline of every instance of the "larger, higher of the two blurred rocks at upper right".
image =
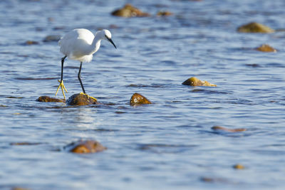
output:
[{"label": "larger, higher of the two blurred rocks at upper right", "polygon": [[269,28],[268,26],[264,26],[261,23],[247,23],[243,26],[239,26],[237,31],[244,33],[272,33],[274,29]]}]

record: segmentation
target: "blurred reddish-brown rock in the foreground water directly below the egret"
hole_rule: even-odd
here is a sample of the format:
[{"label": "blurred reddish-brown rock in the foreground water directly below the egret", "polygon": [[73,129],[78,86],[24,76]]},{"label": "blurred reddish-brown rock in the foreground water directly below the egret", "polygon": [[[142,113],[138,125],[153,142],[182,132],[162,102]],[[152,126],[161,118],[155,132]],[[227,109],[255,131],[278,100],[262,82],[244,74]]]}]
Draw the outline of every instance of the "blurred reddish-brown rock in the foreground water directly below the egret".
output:
[{"label": "blurred reddish-brown rock in the foreground water directly below the egret", "polygon": [[78,142],[72,142],[71,144],[68,144],[65,149],[68,149],[69,152],[76,154],[87,154],[102,152],[107,148],[103,147],[102,144],[95,140],[80,140]]}]

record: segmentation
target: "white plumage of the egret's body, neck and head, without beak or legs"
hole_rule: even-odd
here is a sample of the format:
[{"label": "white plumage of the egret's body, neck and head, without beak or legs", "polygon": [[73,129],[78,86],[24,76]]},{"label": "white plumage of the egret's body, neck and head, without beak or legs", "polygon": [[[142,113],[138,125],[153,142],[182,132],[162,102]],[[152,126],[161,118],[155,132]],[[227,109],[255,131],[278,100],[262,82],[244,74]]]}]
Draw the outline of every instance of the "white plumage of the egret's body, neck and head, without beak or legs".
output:
[{"label": "white plumage of the egret's body, neck and head, without beak or legs", "polygon": [[77,28],[66,33],[58,45],[61,46],[61,53],[73,60],[81,62],[90,62],[93,58],[93,53],[100,48],[100,41],[107,36],[111,38],[111,33],[108,30],[97,31],[94,34],[84,28]]}]

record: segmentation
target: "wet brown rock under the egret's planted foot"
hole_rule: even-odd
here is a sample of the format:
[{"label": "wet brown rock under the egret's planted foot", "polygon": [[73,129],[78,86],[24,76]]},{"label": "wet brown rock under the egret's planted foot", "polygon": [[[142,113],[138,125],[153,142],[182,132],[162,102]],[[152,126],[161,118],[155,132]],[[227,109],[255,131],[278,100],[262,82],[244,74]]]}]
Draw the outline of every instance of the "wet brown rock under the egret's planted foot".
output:
[{"label": "wet brown rock under the egret's planted foot", "polygon": [[94,97],[86,95],[84,93],[74,94],[68,98],[66,101],[68,105],[91,105],[91,104],[100,104]]}]

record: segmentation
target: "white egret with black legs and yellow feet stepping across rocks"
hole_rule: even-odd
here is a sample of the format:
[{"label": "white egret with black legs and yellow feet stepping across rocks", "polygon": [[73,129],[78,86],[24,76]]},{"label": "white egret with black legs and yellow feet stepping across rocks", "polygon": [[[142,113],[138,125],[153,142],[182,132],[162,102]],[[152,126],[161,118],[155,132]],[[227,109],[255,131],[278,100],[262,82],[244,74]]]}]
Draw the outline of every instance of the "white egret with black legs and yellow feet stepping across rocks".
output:
[{"label": "white egret with black legs and yellow feet stepping across rocks", "polygon": [[86,94],[86,91],[83,87],[83,83],[81,81],[82,63],[88,63],[92,60],[93,54],[99,50],[102,40],[109,41],[113,44],[115,48],[117,48],[111,37],[112,34],[107,29],[97,31],[94,35],[88,29],[76,28],[66,33],[66,35],[58,41],[58,46],[60,46],[60,51],[61,53],[63,53],[64,56],[63,58],[61,58],[61,80],[58,80],[59,85],[58,89],[56,90],[56,95],[58,93],[59,88],[61,88],[63,97],[64,99],[66,99],[64,90],[66,91],[66,93],[67,90],[63,84],[63,63],[66,58],[80,61],[81,65],[78,71],[78,80],[81,83],[83,93]]}]

